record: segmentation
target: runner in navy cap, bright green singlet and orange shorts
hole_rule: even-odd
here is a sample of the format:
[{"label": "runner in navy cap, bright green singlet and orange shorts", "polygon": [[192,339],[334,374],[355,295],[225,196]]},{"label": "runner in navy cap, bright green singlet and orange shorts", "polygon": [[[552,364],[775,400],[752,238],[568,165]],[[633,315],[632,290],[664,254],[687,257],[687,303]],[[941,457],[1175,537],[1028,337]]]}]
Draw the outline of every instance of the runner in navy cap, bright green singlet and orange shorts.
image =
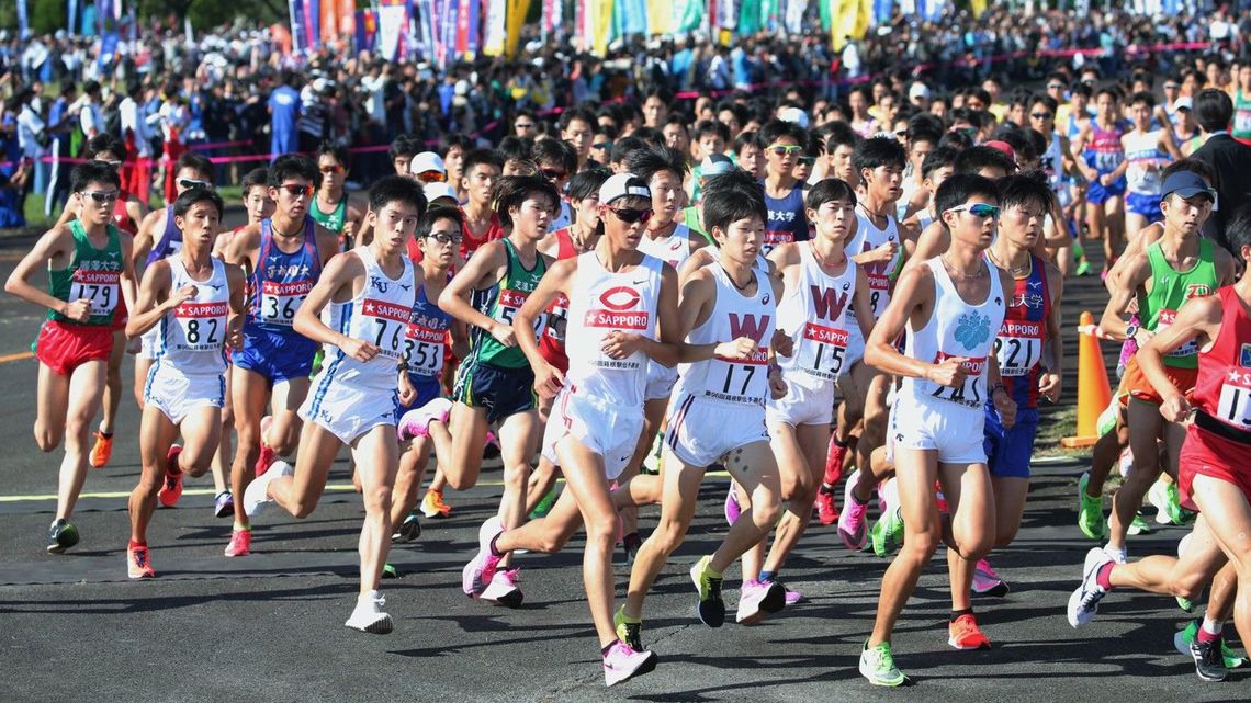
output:
[{"label": "runner in navy cap, bright green singlet and orange shorts", "polygon": [[[1100,320],[1103,334],[1116,340],[1135,339],[1141,349],[1157,331],[1172,324],[1187,299],[1211,295],[1221,284],[1233,280],[1233,258],[1200,236],[1215,198],[1203,179],[1191,171],[1178,171],[1165,180],[1160,201],[1163,236],[1143,254],[1136,254],[1121,280],[1115,283]],[[1122,319],[1135,300],[1141,326]],[[1185,346],[1165,359],[1181,393],[1195,388],[1196,353],[1193,346]],[[1133,359],[1126,365],[1123,383],[1128,390],[1122,403],[1127,407],[1133,472],[1112,497],[1106,549],[1117,562],[1126,559],[1125,538],[1130,524],[1142,507],[1142,498],[1160,475],[1157,442],[1165,443],[1165,470],[1176,478],[1177,455],[1185,438],[1181,425],[1162,422],[1158,413],[1162,398],[1143,378]]]}]

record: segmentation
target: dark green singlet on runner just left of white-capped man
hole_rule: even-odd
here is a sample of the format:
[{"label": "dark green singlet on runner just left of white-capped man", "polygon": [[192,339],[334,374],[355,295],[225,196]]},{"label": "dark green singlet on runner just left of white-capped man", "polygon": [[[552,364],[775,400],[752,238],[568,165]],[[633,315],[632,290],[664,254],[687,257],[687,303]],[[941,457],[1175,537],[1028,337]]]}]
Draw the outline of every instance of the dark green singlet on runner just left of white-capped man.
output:
[{"label": "dark green singlet on runner just left of white-capped man", "polygon": [[[508,239],[504,239],[503,243],[504,258],[508,261],[504,266],[504,276],[490,288],[474,290],[472,304],[488,318],[510,325],[517,311],[522,309],[525,299],[538,288],[539,279],[547,273],[547,263],[543,260],[543,255],[535,251],[534,268],[525,269],[517,255],[517,249],[513,248],[513,243]],[[543,331],[545,316],[542,315],[534,320],[535,339]],[[520,346],[504,346],[482,328],[474,326],[469,339],[473,344],[469,359],[473,362],[502,369],[520,369],[530,365]]]}]

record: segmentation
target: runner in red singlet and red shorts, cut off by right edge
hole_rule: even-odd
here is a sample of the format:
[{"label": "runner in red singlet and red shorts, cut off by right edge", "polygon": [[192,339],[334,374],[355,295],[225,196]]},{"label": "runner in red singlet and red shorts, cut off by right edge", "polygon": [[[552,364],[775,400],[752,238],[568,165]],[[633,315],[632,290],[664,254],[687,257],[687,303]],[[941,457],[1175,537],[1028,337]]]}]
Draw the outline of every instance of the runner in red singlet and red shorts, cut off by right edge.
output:
[{"label": "runner in red singlet and red shorts, cut off by right edge", "polygon": [[[1180,196],[1180,193],[1173,191]],[[1166,196],[1166,201],[1170,200]],[[1166,203],[1166,208],[1175,205]],[[1166,210],[1167,214],[1167,210]],[[1182,500],[1198,509],[1195,528],[1183,543],[1180,559],[1147,557],[1118,564],[1098,547],[1090,550],[1082,583],[1068,599],[1068,623],[1082,627],[1095,617],[1100,600],[1113,587],[1150,593],[1197,598],[1215,575],[1207,614],[1195,629],[1187,648],[1195,672],[1203,680],[1222,680],[1227,650],[1221,629],[1228,617],[1230,590],[1237,583],[1233,618],[1240,633],[1251,632],[1248,554],[1246,534],[1251,530],[1251,211],[1243,210],[1226,229],[1237,249],[1243,273],[1237,283],[1215,295],[1188,300],[1167,329],[1160,330],[1136,357],[1141,373],[1161,395],[1160,413],[1170,423],[1186,423],[1181,450]],[[1193,395],[1187,400],[1173,380],[1168,358],[1193,345],[1198,349],[1198,372]],[[1187,420],[1193,415],[1193,422]],[[1228,560],[1228,565],[1222,564]],[[1232,572],[1232,573],[1231,573]],[[1217,575],[1218,574],[1218,575]],[[1223,594],[1223,595],[1222,595]],[[1225,607],[1218,607],[1217,604]],[[1213,612],[1216,610],[1216,612]],[[1192,625],[1193,627],[1193,625]],[[1177,635],[1185,643],[1191,628]]]}]

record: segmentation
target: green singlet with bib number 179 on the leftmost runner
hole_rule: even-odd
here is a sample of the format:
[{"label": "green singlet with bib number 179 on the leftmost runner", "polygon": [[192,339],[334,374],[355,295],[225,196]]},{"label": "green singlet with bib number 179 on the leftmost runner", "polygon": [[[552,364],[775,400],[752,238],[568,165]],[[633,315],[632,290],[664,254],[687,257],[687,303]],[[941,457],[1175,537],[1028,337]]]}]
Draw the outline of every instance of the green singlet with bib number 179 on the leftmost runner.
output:
[{"label": "green singlet with bib number 179 on the leftmost runner", "polygon": [[[89,325],[111,325],[113,313],[121,304],[121,235],[118,228],[106,225],[109,244],[96,249],[88,239],[83,221],[70,220],[74,236],[74,254],[70,264],[61,270],[48,270],[48,294],[58,300],[90,300]],[[54,310],[48,319],[58,323],[80,324]]]}]

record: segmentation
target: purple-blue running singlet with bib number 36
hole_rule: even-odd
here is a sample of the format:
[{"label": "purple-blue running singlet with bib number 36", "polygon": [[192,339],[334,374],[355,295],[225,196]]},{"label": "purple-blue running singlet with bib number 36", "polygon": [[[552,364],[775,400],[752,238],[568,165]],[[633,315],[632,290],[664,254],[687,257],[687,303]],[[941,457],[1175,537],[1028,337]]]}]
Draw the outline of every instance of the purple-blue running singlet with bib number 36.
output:
[{"label": "purple-blue running singlet with bib number 36", "polygon": [[322,275],[313,218],[304,220],[304,243],[291,254],[274,244],[274,223],[260,220],[260,253],[251,274],[251,304],[245,331],[264,330],[294,336],[295,311]]}]

